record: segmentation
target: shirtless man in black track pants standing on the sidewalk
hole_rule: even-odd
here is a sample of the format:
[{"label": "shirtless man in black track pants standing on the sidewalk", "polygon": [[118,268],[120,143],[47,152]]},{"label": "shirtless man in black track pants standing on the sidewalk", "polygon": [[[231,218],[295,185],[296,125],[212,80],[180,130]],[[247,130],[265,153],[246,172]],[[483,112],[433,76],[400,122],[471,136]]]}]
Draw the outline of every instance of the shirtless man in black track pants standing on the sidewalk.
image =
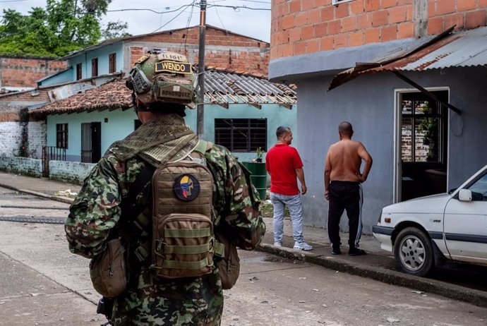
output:
[{"label": "shirtless man in black track pants standing on the sidewalk", "polygon": [[[365,255],[359,249],[362,233],[362,187],[371,171],[372,157],[362,143],[351,140],[354,134],[351,123],[344,121],[338,126],[340,141],[331,145],[325,160],[325,198],[328,205],[328,236],[332,245],[332,255],[339,255],[339,222],[343,211],[349,218],[349,255]],[[360,172],[362,159],[365,162]]]}]

